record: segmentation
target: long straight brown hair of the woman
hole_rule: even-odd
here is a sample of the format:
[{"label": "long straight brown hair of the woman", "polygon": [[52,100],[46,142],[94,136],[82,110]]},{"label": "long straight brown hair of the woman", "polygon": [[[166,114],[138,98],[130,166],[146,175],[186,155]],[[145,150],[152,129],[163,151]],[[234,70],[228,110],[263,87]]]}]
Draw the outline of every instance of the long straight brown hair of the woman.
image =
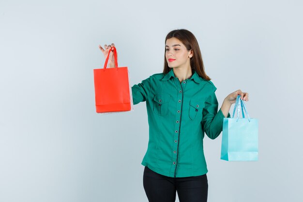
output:
[{"label": "long straight brown hair of the woman", "polygon": [[[211,80],[211,78],[209,78],[204,70],[204,65],[203,65],[203,60],[202,60],[202,56],[201,56],[201,51],[197,42],[196,37],[194,36],[194,34],[188,30],[173,30],[170,31],[166,38],[165,38],[165,43],[167,41],[167,39],[170,38],[177,38],[179,39],[182,44],[184,44],[184,46],[186,47],[186,49],[189,50],[193,50],[193,57],[190,58],[190,66],[192,68],[192,71],[195,70],[197,72],[197,74],[204,78],[205,80]],[[163,73],[167,74],[170,71],[170,68],[168,67],[167,61],[166,61],[166,57],[165,57],[165,53],[164,53],[164,69],[163,69]]]}]

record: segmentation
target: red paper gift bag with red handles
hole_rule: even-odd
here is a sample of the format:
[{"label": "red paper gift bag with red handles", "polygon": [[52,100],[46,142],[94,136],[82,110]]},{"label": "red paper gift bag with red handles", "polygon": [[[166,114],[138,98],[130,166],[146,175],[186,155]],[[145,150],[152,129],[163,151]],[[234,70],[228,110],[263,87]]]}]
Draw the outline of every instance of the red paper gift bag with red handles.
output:
[{"label": "red paper gift bag with red handles", "polygon": [[130,111],[130,91],[127,67],[118,67],[117,50],[114,51],[115,68],[106,68],[108,52],[104,68],[94,69],[96,112]]}]

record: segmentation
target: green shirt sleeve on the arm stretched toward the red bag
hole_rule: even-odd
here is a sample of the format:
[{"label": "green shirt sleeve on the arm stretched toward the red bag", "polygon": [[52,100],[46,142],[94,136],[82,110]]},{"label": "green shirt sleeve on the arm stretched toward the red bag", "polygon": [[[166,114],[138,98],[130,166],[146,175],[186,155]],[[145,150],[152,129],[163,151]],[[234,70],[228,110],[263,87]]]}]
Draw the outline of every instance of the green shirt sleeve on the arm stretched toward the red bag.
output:
[{"label": "green shirt sleeve on the arm stretched toward the red bag", "polygon": [[139,102],[146,101],[146,98],[151,90],[150,78],[142,80],[141,83],[135,84],[132,87],[132,96],[134,105]]}]

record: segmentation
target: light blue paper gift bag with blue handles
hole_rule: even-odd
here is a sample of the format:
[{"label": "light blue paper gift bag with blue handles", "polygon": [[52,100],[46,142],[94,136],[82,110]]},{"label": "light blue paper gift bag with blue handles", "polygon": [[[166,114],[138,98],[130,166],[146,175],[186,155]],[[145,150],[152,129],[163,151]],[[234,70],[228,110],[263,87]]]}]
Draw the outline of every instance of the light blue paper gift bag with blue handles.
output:
[{"label": "light blue paper gift bag with blue handles", "polygon": [[[237,117],[234,118],[237,109]],[[239,118],[242,111],[242,118]],[[244,111],[247,115],[245,118]],[[227,161],[258,161],[258,119],[249,117],[244,101],[238,95],[233,118],[224,118],[221,159]]]}]

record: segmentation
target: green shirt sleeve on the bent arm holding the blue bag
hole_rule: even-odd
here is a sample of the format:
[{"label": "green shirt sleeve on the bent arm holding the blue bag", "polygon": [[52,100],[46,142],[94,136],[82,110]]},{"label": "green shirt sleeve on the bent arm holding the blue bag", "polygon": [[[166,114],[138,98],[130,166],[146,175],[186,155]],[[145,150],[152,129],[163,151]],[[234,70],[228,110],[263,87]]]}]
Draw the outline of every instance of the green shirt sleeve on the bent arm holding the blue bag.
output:
[{"label": "green shirt sleeve on the bent arm holding the blue bag", "polygon": [[[203,109],[202,127],[210,139],[217,138],[223,129],[223,118],[225,118],[221,109],[218,111],[218,100],[213,92],[205,102]],[[228,113],[227,117],[230,117]]]}]

